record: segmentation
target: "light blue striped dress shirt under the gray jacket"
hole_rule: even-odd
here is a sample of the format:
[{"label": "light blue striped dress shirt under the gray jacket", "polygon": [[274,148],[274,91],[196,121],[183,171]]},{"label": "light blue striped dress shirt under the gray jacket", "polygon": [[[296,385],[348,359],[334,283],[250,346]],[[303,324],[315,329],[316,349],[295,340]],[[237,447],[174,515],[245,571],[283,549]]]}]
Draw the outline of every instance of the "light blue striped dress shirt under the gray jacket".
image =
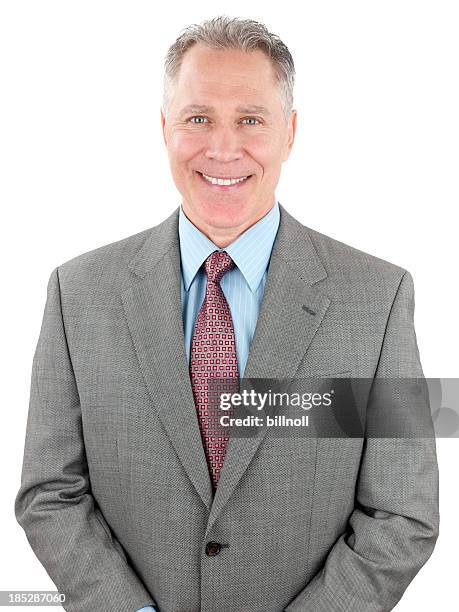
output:
[{"label": "light blue striped dress shirt under the gray jacket", "polygon": [[[180,206],[181,303],[188,363],[194,325],[206,295],[207,275],[201,266],[214,251],[226,251],[236,265],[224,274],[220,286],[231,311],[239,376],[243,377],[263,300],[268,275],[267,267],[279,228],[279,220],[279,204],[275,202],[264,217],[245,230],[230,245],[221,249],[193,225]],[[152,606],[147,606],[137,612],[154,612],[154,610]]]}]

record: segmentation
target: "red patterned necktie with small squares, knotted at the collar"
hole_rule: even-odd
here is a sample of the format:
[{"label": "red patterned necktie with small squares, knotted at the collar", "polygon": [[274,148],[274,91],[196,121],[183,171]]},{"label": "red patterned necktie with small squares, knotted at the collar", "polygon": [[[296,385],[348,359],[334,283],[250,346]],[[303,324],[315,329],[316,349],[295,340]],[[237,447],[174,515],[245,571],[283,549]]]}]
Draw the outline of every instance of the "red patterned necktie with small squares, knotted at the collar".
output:
[{"label": "red patterned necktie with small squares, knotted at the collar", "polygon": [[[239,377],[233,319],[220,287],[221,278],[233,266],[234,262],[226,251],[214,251],[206,259],[206,296],[196,319],[190,351],[191,387],[215,487],[225,459],[228,432],[220,425],[219,417],[225,413],[218,409],[215,400],[219,381],[209,379],[223,378],[223,386],[229,382],[234,387]],[[215,382],[217,385],[212,384]],[[229,391],[228,387],[224,390]]]}]

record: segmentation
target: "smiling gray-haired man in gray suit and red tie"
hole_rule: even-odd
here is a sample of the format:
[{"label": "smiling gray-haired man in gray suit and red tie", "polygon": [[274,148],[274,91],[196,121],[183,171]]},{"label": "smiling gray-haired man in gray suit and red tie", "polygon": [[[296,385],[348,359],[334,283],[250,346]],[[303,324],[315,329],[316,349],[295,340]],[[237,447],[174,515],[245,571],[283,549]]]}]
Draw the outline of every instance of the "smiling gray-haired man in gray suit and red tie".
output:
[{"label": "smiling gray-haired man in gray suit and red tie", "polygon": [[257,22],[185,30],[181,206],[51,274],[15,512],[66,610],[385,611],[432,553],[434,439],[229,438],[207,411],[209,372],[423,377],[409,272],[276,200],[293,80]]}]

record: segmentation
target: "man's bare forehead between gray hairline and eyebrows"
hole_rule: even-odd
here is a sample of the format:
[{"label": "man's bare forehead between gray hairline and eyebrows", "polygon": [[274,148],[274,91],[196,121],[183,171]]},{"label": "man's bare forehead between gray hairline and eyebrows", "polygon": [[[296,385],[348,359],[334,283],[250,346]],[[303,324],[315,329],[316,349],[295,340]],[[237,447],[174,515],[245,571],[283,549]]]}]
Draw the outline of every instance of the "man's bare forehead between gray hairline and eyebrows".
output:
[{"label": "man's bare forehead between gray hairline and eyebrows", "polygon": [[278,87],[271,60],[259,49],[210,49],[196,44],[185,53],[174,98],[212,105],[219,101],[271,105]]}]

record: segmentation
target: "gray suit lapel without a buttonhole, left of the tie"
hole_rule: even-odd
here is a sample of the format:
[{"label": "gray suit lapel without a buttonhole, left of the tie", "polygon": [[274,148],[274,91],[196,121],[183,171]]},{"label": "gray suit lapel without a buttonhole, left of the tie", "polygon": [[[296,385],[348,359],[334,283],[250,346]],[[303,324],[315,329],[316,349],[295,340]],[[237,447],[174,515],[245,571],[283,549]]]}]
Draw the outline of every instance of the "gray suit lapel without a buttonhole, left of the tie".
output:
[{"label": "gray suit lapel without a buttonhole, left of the tie", "polygon": [[184,470],[210,508],[212,486],[185,353],[178,210],[152,229],[132,260],[130,268],[139,280],[121,299],[158,416]]}]

